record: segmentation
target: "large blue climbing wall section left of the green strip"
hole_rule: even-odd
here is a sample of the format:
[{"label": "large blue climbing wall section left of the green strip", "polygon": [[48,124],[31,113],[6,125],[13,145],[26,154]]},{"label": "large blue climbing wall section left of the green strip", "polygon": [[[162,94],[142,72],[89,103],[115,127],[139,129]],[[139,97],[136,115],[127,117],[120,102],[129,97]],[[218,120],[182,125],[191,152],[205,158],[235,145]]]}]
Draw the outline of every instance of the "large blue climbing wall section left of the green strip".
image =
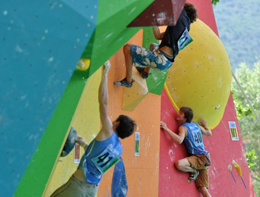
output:
[{"label": "large blue climbing wall section left of the green strip", "polygon": [[1,1],[0,196],[15,192],[94,31],[97,3]]}]

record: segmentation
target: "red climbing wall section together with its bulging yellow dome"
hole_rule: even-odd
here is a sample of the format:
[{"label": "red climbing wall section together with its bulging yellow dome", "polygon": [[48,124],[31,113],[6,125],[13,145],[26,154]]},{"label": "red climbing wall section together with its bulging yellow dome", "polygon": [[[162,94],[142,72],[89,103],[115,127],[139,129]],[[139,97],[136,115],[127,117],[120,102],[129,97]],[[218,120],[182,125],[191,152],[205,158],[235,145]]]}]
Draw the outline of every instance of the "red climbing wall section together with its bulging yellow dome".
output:
[{"label": "red climbing wall section together with its bulging yellow dome", "polygon": [[[211,28],[216,35],[218,35],[210,1],[192,0],[191,2],[194,3],[198,8],[199,19],[204,22],[209,28]],[[192,27],[194,27],[195,25],[197,24],[193,24]],[[200,31],[203,35],[203,27],[200,28]],[[198,32],[198,34],[200,34],[200,32]],[[195,35],[196,39],[197,36],[198,35]],[[189,48],[187,50],[191,52],[191,56],[188,60],[186,59],[186,64],[183,64],[182,68],[179,68],[178,63],[181,61],[181,59],[183,59],[185,54],[180,53],[180,55],[177,57],[177,65],[174,69],[175,72],[179,71],[178,74],[174,74],[174,72],[172,72],[173,70],[169,71],[172,73],[168,75],[168,77],[172,78],[172,80],[167,78],[168,81],[166,80],[166,84],[167,86],[170,86],[168,88],[172,88],[172,91],[170,96],[168,92],[162,92],[161,119],[167,123],[168,127],[171,130],[177,132],[178,123],[175,119],[177,116],[178,108],[185,105],[194,108],[194,120],[197,121],[200,118],[207,120],[213,133],[211,137],[203,136],[205,149],[210,152],[212,159],[212,166],[209,168],[209,192],[211,193],[211,195],[230,197],[255,196],[252,187],[250,172],[246,162],[244,145],[238,127],[232,95],[230,94],[230,92],[227,92],[228,94],[226,94],[226,90],[223,90],[221,93],[214,96],[216,91],[219,91],[221,88],[227,88],[227,86],[225,86],[225,83],[219,83],[220,80],[221,82],[227,80],[228,83],[230,83],[228,76],[226,75],[231,75],[230,66],[229,63],[224,63],[225,58],[221,57],[220,55],[220,53],[222,52],[219,52],[217,50],[218,44],[215,43],[214,39],[206,41],[207,36],[204,36],[203,38],[205,39],[205,42],[203,42],[202,40],[202,43],[200,43],[201,46],[196,47],[196,58],[192,57],[193,52],[191,48]],[[207,50],[203,50],[205,44],[209,45]],[[191,44],[188,47],[193,46]],[[214,53],[218,53],[219,55],[214,56]],[[216,65],[217,70],[212,72],[212,69],[214,69],[214,61],[218,61],[217,58],[220,57],[221,61]],[[204,59],[208,59],[210,62],[208,64],[203,64]],[[198,63],[201,64],[198,66]],[[187,69],[187,67],[190,65],[193,66]],[[201,67],[207,70],[203,72],[202,69],[200,71],[202,75],[200,75],[200,73],[196,71],[196,69],[199,69]],[[224,73],[221,76],[218,76],[220,72],[223,71],[223,69],[225,70]],[[193,71],[193,73],[191,73],[191,71]],[[189,74],[189,76],[186,75],[186,72]],[[186,75],[185,80],[181,80],[180,75]],[[174,79],[174,77],[176,78]],[[214,81],[216,82],[216,85],[210,84],[210,80],[208,80],[208,77],[210,79],[215,78]],[[188,84],[192,80],[194,81],[191,84]],[[228,83],[226,83],[226,85],[228,85]],[[223,93],[226,96],[224,96]],[[223,106],[223,104],[220,104],[218,109],[216,109],[216,105],[214,105],[214,110],[212,110],[210,113],[207,113],[206,111],[210,110],[210,106],[208,106],[208,104],[214,103],[214,101],[218,100],[218,96],[221,96],[221,102],[225,102],[223,112],[218,112],[221,106]],[[232,122],[232,124],[235,123],[236,127],[230,127],[229,122]],[[237,134],[235,130],[238,132]],[[231,134],[233,132],[236,135],[233,135],[232,137]],[[175,161],[188,156],[184,145],[179,145],[178,143],[173,142],[171,137],[162,130],[160,139],[159,196],[200,196],[198,191],[196,190],[195,184],[187,182],[189,174],[179,172],[174,167]],[[242,169],[242,178],[239,176],[237,169],[232,164],[233,160],[240,165]],[[232,166],[231,172],[228,169],[229,165]]]}]

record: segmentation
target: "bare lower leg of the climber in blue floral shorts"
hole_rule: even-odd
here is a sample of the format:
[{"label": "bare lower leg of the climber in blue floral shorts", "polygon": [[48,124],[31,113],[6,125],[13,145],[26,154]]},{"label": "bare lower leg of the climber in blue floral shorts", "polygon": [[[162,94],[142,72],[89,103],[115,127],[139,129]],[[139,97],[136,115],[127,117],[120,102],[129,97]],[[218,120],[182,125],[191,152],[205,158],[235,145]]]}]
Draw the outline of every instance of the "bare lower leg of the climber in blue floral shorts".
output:
[{"label": "bare lower leg of the climber in blue floral shorts", "polygon": [[133,67],[133,57],[130,52],[131,50],[131,45],[126,44],[124,45],[123,51],[124,51],[124,56],[125,56],[125,65],[126,65],[126,80],[127,83],[132,82],[132,67]]}]

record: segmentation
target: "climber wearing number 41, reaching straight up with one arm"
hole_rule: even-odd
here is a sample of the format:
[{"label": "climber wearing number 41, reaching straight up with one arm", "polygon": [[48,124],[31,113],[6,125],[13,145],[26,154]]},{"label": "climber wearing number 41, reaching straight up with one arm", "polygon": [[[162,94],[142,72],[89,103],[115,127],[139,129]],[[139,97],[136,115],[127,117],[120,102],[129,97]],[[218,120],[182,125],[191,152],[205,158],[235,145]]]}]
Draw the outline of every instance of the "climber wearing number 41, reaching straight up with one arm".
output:
[{"label": "climber wearing number 41, reaching straight up with one arm", "polygon": [[107,90],[110,62],[106,61],[103,68],[98,94],[101,130],[89,145],[82,137],[77,137],[76,142],[84,148],[85,154],[69,181],[51,197],[95,197],[103,174],[121,159],[123,150],[119,138],[127,138],[135,130],[136,124],[128,116],[120,115],[115,121],[110,120]]}]

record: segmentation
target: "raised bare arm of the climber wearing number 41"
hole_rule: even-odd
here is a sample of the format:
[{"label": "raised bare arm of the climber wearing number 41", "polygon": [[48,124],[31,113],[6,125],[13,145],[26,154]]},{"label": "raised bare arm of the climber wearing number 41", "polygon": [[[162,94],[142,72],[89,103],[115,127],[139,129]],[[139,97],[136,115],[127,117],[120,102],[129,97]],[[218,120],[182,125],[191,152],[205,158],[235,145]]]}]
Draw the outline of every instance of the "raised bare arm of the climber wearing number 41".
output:
[{"label": "raised bare arm of the climber wearing number 41", "polygon": [[112,122],[108,114],[108,90],[107,90],[107,73],[110,68],[110,62],[105,62],[103,66],[103,75],[101,83],[99,86],[99,111],[100,111],[100,120],[101,120],[101,130],[98,133],[96,139],[99,141],[106,140],[113,134]]}]

